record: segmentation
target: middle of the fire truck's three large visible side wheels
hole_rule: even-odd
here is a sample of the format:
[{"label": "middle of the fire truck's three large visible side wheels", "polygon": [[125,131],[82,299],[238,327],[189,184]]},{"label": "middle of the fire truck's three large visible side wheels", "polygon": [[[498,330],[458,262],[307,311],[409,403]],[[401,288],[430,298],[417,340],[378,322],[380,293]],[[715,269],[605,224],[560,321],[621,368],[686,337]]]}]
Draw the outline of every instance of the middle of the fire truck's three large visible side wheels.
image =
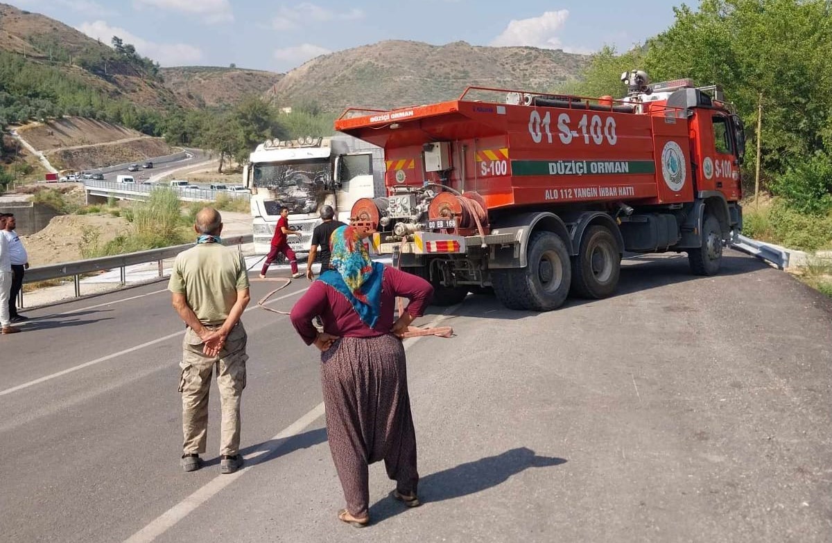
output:
[{"label": "middle of the fire truck's three large visible side wheels", "polygon": [[621,262],[612,232],[604,226],[590,226],[572,259],[572,294],[588,299],[612,296],[621,275]]}]

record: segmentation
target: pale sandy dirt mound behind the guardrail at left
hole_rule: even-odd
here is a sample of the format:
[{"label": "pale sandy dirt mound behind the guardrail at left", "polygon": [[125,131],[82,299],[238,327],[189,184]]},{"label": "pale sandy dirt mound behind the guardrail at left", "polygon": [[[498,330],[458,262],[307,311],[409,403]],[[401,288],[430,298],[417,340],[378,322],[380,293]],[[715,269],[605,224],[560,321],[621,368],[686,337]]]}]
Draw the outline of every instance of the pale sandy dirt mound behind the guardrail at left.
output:
[{"label": "pale sandy dirt mound behind the guardrail at left", "polygon": [[132,225],[121,217],[60,215],[37,234],[21,238],[29,256],[29,264],[45,266],[82,259],[79,245],[87,229],[97,230],[99,243],[105,244],[117,235],[129,232],[131,228]]}]

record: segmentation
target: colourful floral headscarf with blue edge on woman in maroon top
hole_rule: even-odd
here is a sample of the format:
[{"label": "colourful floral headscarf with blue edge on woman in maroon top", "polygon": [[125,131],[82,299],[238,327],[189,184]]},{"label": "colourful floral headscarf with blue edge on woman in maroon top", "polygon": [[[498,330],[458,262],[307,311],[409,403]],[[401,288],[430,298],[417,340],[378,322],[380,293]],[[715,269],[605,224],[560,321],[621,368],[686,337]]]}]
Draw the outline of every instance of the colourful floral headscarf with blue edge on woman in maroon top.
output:
[{"label": "colourful floral headscarf with blue edge on woman in maroon top", "polygon": [[324,272],[319,279],[344,294],[364,324],[373,328],[381,309],[384,264],[369,258],[367,247],[352,226],[335,230],[329,247],[329,265],[334,269]]}]

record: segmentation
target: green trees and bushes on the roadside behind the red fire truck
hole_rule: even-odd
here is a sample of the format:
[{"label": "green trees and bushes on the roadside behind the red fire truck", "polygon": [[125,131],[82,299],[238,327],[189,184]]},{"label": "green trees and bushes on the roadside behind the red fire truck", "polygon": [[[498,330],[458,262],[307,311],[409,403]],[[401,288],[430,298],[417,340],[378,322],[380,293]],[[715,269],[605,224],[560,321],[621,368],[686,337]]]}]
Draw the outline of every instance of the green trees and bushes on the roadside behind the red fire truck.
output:
[{"label": "green trees and bushes on the roadside behind the red fire truck", "polygon": [[[636,67],[652,81],[720,85],[745,123],[745,234],[793,249],[832,247],[830,2],[702,0],[674,12],[665,32],[630,51],[605,47],[558,91],[622,96],[619,77]],[[759,209],[750,204],[758,162],[760,190],[774,196]]]}]

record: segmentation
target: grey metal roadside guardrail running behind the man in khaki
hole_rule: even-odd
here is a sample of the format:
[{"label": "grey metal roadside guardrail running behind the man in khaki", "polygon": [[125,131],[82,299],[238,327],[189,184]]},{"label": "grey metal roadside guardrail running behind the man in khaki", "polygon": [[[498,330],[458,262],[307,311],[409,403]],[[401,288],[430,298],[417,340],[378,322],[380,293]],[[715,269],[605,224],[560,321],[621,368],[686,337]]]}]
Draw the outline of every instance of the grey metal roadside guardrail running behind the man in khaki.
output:
[{"label": "grey metal roadside guardrail running behind the man in khaki", "polygon": [[[222,239],[223,245],[241,245],[253,243],[254,236],[252,234],[231,236]],[[63,277],[73,277],[75,283],[75,297],[81,296],[81,276],[84,274],[92,274],[95,272],[106,271],[110,269],[121,270],[121,286],[126,284],[126,267],[135,264],[146,264],[148,262],[157,262],[159,264],[159,277],[163,277],[162,263],[165,259],[171,259],[177,254],[180,254],[186,249],[191,249],[194,244],[174,245],[172,247],[165,247],[162,249],[148,249],[146,251],[138,251],[136,253],[116,254],[116,256],[104,256],[98,259],[76,260],[74,262],[66,262],[63,264],[52,264],[49,266],[38,266],[37,268],[30,268],[26,274],[23,275],[23,283],[36,283],[37,281],[47,281],[49,279],[61,279]],[[21,291],[18,299],[20,307],[23,307],[23,293]]]}]

